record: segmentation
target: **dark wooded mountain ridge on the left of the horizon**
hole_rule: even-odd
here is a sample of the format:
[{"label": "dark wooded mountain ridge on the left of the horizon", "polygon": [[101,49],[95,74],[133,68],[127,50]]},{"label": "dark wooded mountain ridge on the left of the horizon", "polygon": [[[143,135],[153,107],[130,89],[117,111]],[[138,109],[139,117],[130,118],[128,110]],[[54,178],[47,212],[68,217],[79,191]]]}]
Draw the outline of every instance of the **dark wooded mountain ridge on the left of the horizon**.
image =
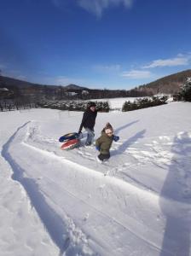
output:
[{"label": "dark wooded mountain ridge on the left of the horizon", "polygon": [[[5,92],[3,88],[8,91]],[[12,99],[17,102],[75,100],[84,98],[84,90],[89,89],[76,84],[67,86],[34,84],[0,76],[0,100]]]}]

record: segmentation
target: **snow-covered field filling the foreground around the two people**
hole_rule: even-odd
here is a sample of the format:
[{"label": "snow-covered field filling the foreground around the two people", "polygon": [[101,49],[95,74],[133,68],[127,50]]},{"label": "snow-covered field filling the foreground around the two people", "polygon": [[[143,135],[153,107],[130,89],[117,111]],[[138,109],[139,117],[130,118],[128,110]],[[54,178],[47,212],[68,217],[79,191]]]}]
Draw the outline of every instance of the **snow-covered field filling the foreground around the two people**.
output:
[{"label": "snow-covered field filling the foreground around the two people", "polygon": [[83,113],[0,113],[0,255],[190,256],[190,113],[98,113],[96,137],[107,121],[120,137],[103,165],[93,146],[60,149]]}]

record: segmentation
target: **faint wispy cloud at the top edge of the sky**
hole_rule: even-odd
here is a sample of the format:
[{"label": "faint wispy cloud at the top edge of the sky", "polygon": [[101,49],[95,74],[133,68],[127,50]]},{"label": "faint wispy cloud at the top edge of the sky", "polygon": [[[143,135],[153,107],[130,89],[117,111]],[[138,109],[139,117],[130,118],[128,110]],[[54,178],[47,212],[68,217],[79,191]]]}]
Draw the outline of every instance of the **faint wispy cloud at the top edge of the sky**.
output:
[{"label": "faint wispy cloud at the top edge of the sky", "polygon": [[104,9],[113,6],[124,5],[125,8],[130,8],[134,0],[78,0],[79,6],[88,12],[101,17]]}]

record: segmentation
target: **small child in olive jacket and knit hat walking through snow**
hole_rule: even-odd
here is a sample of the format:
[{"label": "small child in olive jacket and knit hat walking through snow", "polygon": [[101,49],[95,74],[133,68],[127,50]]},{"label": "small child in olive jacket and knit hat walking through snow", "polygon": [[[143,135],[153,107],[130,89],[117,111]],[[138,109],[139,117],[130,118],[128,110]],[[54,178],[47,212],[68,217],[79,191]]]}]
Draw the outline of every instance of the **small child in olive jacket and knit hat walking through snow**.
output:
[{"label": "small child in olive jacket and knit hat walking through snow", "polygon": [[114,141],[118,141],[119,137],[113,135],[113,127],[109,123],[101,131],[101,137],[96,139],[96,149],[100,151],[100,154],[97,156],[99,162],[106,161],[110,158],[109,149],[112,146]]}]

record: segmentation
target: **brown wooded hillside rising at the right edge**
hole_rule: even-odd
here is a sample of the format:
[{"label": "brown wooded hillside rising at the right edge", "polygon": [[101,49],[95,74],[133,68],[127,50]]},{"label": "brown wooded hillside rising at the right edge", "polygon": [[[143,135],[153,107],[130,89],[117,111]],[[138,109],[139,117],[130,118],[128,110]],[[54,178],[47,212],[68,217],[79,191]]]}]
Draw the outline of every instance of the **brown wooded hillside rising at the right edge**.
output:
[{"label": "brown wooded hillside rising at the right edge", "polygon": [[191,77],[191,69],[171,74],[149,84],[143,84],[138,87],[138,90],[145,92],[148,95],[156,95],[160,93],[176,94],[188,77]]}]

